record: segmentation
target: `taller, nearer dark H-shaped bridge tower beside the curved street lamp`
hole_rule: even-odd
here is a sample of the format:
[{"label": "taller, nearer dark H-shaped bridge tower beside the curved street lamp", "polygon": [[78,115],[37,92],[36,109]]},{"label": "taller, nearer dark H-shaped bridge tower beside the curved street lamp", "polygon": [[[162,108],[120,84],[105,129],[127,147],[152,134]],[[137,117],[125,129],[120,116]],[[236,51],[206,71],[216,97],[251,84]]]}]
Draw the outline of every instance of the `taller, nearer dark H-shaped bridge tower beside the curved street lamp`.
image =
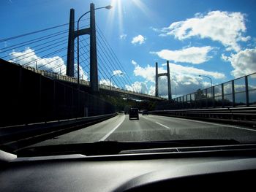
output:
[{"label": "taller, nearer dark H-shaped bridge tower beside the curved street lamp", "polygon": [[90,6],[90,27],[75,31],[75,9],[70,9],[69,16],[69,39],[67,45],[67,71],[69,77],[74,77],[74,53],[75,38],[88,34],[90,36],[90,87],[92,93],[99,92],[98,85],[98,65],[97,65],[97,46],[95,29],[95,9],[94,4]]}]

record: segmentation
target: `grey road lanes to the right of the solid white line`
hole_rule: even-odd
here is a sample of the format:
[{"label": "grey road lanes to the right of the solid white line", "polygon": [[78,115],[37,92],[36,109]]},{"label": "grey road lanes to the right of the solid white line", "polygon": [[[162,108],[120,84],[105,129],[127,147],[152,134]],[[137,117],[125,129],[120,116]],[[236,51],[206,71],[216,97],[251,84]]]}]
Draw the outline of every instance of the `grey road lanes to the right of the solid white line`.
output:
[{"label": "grey road lanes to the right of the solid white line", "polygon": [[203,122],[157,115],[140,115],[140,120],[128,116],[106,140],[148,141],[174,139],[236,139],[256,141],[256,130],[242,126]]}]

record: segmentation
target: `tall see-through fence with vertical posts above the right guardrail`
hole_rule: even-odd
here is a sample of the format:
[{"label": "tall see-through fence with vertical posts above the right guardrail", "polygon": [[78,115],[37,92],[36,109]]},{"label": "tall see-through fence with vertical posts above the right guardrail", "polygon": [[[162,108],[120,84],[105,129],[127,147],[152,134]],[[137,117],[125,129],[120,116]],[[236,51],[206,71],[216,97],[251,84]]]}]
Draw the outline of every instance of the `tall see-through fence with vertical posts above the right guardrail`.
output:
[{"label": "tall see-through fence with vertical posts above the right guardrail", "polygon": [[249,107],[256,105],[256,73],[223,82],[194,93],[158,104],[157,110],[199,109],[215,107]]}]

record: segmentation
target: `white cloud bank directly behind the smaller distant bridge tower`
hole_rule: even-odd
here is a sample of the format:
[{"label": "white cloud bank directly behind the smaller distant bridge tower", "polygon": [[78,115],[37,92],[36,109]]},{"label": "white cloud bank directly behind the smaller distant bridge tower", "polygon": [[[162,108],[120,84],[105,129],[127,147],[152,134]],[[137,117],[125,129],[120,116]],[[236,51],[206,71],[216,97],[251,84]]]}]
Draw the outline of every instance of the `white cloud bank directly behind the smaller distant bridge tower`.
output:
[{"label": "white cloud bank directly behind the smaller distant bridge tower", "polygon": [[[159,73],[165,73],[166,69],[163,66],[166,64],[162,64],[158,68]],[[178,64],[169,64],[170,66],[170,79],[173,95],[175,93],[175,87],[177,95],[183,95],[187,93],[195,92],[198,88],[208,88],[211,83],[208,82],[208,79],[203,79],[202,77],[198,77],[199,74],[207,75],[212,77],[212,79],[221,79],[225,77],[225,74],[219,72],[210,72],[203,69],[197,69],[195,67],[190,66],[181,66]],[[145,83],[148,88],[148,94],[154,95],[155,92],[155,66],[145,66],[142,67],[136,63],[134,74],[135,76],[143,77],[145,79]],[[159,96],[167,97],[167,78],[159,77]]]}]

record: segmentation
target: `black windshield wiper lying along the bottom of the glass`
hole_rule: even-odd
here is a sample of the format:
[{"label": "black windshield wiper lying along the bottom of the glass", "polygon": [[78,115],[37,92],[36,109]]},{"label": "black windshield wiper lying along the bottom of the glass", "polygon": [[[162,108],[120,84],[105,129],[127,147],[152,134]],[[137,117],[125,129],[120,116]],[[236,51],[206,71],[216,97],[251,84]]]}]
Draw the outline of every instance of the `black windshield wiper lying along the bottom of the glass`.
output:
[{"label": "black windshield wiper lying along the bottom of the glass", "polygon": [[43,156],[43,155],[113,155],[124,150],[143,150],[166,147],[197,147],[214,145],[238,145],[240,142],[233,139],[187,139],[171,141],[150,141],[150,142],[117,142],[103,141],[93,143],[78,143],[64,145],[47,145],[37,147],[25,147],[17,150],[20,156]]}]

